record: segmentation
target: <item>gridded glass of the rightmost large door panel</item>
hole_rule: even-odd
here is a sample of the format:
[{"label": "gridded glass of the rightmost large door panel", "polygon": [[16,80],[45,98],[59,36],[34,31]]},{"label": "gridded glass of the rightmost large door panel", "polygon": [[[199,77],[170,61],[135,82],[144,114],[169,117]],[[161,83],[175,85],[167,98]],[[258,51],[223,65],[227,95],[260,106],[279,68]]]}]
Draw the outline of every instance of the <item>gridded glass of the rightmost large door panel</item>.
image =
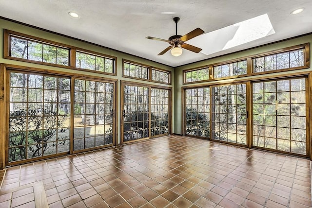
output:
[{"label": "gridded glass of the rightmost large door panel", "polygon": [[305,78],[253,83],[253,146],[306,155],[306,125]]}]

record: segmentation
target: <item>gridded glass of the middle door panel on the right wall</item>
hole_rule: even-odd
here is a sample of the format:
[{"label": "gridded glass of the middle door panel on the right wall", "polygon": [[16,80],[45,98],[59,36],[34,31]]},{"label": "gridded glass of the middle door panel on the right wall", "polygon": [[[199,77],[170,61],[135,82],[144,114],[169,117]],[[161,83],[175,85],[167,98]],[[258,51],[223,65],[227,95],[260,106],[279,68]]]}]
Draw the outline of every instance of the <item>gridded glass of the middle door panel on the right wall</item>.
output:
[{"label": "gridded glass of the middle door panel on the right wall", "polygon": [[212,139],[246,145],[246,84],[212,90]]}]

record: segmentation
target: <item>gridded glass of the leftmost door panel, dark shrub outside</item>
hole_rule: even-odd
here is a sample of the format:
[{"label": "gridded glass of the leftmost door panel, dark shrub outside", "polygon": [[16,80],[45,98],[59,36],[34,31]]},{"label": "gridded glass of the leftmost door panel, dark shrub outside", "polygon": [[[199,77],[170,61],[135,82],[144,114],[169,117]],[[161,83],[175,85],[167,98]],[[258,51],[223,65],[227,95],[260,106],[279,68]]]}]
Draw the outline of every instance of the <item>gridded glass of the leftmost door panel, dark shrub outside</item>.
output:
[{"label": "gridded glass of the leftmost door panel, dark shrub outside", "polygon": [[9,162],[69,152],[69,78],[11,72]]}]

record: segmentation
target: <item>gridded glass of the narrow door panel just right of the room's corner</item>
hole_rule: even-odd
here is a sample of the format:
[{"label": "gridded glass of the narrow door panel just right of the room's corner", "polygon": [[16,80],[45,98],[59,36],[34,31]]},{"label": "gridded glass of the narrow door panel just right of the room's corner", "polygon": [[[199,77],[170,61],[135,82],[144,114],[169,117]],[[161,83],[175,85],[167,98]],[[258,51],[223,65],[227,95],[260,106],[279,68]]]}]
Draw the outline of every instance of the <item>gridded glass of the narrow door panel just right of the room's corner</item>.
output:
[{"label": "gridded glass of the narrow door panel just right of the room's corner", "polygon": [[210,138],[210,87],[185,89],[185,134]]}]

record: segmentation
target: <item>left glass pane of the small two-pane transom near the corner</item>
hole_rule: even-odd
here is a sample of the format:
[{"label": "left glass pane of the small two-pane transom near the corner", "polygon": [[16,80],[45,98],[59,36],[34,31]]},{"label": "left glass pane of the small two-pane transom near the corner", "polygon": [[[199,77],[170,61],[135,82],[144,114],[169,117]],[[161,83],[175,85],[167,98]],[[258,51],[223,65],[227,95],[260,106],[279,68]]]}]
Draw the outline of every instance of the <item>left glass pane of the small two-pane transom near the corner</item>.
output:
[{"label": "left glass pane of the small two-pane transom near the corner", "polygon": [[148,79],[148,67],[124,62],[123,73],[125,76]]}]

